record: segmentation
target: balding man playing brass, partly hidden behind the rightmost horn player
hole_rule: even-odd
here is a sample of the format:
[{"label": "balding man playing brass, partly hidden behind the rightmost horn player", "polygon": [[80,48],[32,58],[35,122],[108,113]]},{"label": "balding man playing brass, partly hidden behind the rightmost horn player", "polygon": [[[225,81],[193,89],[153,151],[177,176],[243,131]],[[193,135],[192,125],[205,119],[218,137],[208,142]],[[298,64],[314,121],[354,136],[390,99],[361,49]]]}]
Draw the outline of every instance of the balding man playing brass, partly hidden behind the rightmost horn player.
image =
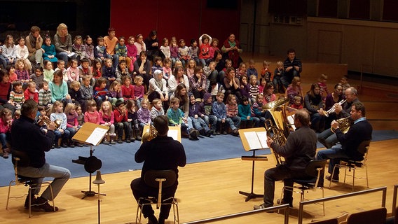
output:
[{"label": "balding man playing brass, partly hidden behind the rightmost horn player", "polygon": [[[359,102],[357,94],[358,92],[355,87],[348,87],[347,90],[345,90],[345,102],[343,102],[343,104],[334,104],[334,112],[331,113],[335,113],[337,119],[349,118],[352,104]],[[351,119],[349,120],[352,121]],[[318,135],[318,141],[320,141],[320,143],[326,148],[331,148],[338,142],[336,134],[334,134],[330,129],[324,130],[320,133]]]}]

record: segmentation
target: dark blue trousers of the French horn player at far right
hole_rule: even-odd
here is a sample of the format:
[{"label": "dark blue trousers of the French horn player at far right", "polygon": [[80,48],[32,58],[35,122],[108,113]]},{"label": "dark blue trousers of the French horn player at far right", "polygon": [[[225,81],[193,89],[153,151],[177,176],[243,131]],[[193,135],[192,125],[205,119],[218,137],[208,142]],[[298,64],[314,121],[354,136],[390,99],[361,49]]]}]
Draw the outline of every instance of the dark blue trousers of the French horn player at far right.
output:
[{"label": "dark blue trousers of the French horn player at far right", "polygon": [[[325,159],[330,159],[329,160],[329,168],[328,172],[331,174],[333,172],[334,165],[340,164],[341,159],[348,159],[350,158],[347,154],[345,154],[345,151],[341,148],[341,146],[333,146],[328,149],[324,149],[321,151],[318,151],[315,160],[325,160]],[[338,168],[334,171],[334,175],[338,175],[339,171]]]}]

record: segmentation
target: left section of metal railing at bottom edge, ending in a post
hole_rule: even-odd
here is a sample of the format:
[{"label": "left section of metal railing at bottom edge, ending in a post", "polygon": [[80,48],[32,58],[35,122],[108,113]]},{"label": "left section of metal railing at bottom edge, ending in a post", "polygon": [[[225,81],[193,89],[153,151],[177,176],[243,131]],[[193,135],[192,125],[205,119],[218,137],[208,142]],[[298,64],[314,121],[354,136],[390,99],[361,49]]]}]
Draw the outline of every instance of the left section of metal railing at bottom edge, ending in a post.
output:
[{"label": "left section of metal railing at bottom edge, ending in a post", "polygon": [[282,205],[277,205],[274,207],[269,207],[266,209],[258,209],[258,210],[252,210],[252,211],[243,211],[240,213],[236,213],[236,214],[229,214],[226,216],[217,216],[214,218],[206,218],[206,219],[201,219],[198,221],[191,221],[191,222],[187,222],[184,224],[198,224],[198,223],[212,223],[212,222],[217,222],[217,221],[222,221],[222,220],[226,220],[229,218],[237,218],[240,216],[248,216],[248,215],[252,215],[252,214],[257,214],[263,211],[273,211],[276,209],[284,209],[284,224],[288,224],[289,223],[289,204],[282,204]]}]

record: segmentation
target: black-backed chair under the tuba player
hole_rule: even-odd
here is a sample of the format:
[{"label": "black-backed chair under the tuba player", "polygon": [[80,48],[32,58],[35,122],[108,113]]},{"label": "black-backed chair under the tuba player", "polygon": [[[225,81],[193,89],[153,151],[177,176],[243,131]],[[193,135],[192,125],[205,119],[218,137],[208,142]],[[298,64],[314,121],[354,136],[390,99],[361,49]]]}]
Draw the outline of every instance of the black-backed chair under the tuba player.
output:
[{"label": "black-backed chair under the tuba player", "polygon": [[[304,197],[304,193],[308,190],[316,190],[317,188],[320,188],[322,190],[322,197],[324,197],[324,188],[323,186],[320,185],[320,179],[323,178],[321,174],[324,172],[324,165],[326,164],[327,160],[311,160],[307,167],[306,167],[306,174],[310,177],[313,177],[312,179],[292,179],[294,183],[299,184],[299,186],[284,186],[282,188],[282,193],[280,194],[280,203],[282,203],[282,196],[284,190],[291,190],[291,192],[294,193],[299,193],[300,194],[300,201],[303,202],[303,200],[306,200]],[[299,191],[296,191],[295,189],[299,189]],[[323,214],[324,214],[324,202],[322,202],[322,207],[323,207]]]}]

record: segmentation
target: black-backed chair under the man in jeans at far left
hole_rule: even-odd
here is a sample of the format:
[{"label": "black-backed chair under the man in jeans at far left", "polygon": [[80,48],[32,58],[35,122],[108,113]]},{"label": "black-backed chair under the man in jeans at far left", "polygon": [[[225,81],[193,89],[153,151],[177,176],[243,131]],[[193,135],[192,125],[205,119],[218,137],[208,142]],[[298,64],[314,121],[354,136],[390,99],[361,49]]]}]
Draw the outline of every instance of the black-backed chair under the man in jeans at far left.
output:
[{"label": "black-backed chair under the man in jeans at far left", "polygon": [[[22,196],[10,196],[11,193],[11,186],[13,186],[13,183],[15,184],[14,186],[19,186],[19,185],[24,185],[29,187],[28,191],[28,196],[29,196],[29,218],[32,216],[32,191],[40,188],[40,186],[50,186],[50,192],[51,192],[51,197],[54,198],[53,194],[53,188],[50,185],[50,182],[41,182],[41,183],[36,183],[35,180],[36,178],[32,177],[27,177],[27,176],[21,176],[18,174],[18,165],[20,166],[26,166],[29,165],[29,158],[27,157],[26,153],[22,151],[12,151],[13,153],[13,165],[14,165],[14,174],[15,174],[15,179],[10,181],[10,184],[8,184],[8,196],[7,196],[7,203],[6,203],[6,209],[8,209],[8,201],[10,198],[20,198],[20,197],[25,197],[25,195]],[[53,200],[53,207],[55,211],[55,203]]]}]

